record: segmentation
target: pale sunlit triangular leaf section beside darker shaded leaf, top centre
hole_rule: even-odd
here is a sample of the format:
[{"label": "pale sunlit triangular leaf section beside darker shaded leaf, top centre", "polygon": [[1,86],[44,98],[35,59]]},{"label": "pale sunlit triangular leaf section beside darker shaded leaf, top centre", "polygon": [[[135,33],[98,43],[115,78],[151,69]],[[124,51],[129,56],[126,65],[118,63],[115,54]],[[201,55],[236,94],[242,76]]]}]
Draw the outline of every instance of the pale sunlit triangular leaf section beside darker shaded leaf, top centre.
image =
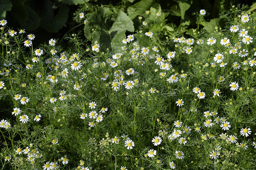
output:
[{"label": "pale sunlit triangular leaf section beside darker shaded leaf, top centre", "polygon": [[119,33],[125,30],[134,32],[133,21],[127,16],[127,14],[125,14],[125,12],[120,10],[109,32],[113,34],[115,32]]}]

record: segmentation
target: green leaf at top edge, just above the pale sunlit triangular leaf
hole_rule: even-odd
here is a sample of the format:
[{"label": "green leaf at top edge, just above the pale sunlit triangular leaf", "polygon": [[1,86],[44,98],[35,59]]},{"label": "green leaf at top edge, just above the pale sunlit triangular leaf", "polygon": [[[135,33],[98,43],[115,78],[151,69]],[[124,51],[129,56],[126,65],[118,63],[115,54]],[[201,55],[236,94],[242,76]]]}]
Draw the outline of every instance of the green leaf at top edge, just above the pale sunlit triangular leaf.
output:
[{"label": "green leaf at top edge, just above the pale sunlit triangular leaf", "polygon": [[131,20],[136,18],[138,15],[144,14],[147,10],[150,9],[151,5],[155,2],[155,0],[141,0],[134,5],[131,5],[127,9],[128,16]]}]

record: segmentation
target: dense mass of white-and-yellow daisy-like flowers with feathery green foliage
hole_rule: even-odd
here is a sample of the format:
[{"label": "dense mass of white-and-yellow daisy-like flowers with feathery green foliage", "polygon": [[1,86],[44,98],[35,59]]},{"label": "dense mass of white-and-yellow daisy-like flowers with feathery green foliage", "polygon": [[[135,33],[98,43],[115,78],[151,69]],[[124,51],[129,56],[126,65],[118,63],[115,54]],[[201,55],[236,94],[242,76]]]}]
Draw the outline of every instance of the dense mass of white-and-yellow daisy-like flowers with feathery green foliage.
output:
[{"label": "dense mass of white-and-yellow daisy-like flowers with feathery green foliage", "polygon": [[117,51],[1,20],[1,169],[256,168],[255,13],[165,37],[148,12]]}]

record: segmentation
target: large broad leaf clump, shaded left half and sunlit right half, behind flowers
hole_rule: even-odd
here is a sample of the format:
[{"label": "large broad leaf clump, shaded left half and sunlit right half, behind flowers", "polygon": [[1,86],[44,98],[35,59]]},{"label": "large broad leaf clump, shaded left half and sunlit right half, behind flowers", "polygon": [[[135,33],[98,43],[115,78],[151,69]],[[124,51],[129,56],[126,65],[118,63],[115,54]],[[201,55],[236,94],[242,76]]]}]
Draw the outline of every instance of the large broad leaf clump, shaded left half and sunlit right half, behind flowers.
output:
[{"label": "large broad leaf clump, shaded left half and sunlit right half, behind flowers", "polygon": [[133,21],[121,10],[115,16],[109,8],[100,7],[88,20],[84,27],[85,36],[102,44],[102,50],[120,49],[120,40],[125,39],[125,32],[134,32]]}]

